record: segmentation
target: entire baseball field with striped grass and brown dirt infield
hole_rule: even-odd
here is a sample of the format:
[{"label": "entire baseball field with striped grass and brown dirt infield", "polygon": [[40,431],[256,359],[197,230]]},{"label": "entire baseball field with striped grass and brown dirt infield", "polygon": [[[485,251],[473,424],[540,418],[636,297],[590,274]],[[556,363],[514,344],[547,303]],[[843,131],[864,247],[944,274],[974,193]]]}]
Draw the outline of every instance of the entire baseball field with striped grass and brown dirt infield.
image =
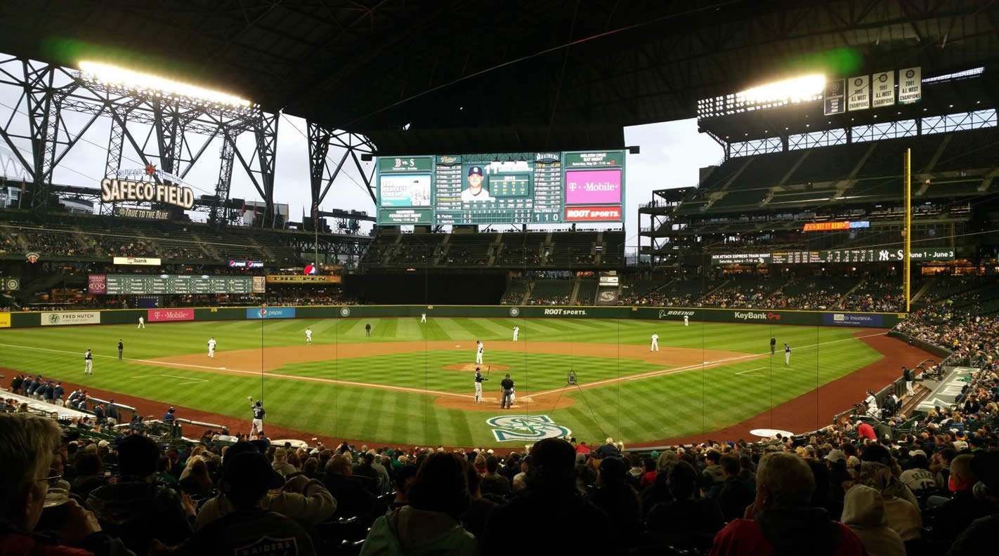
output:
[{"label": "entire baseball field with striped grass and brown dirt infield", "polygon": [[[515,342],[514,325],[520,330]],[[312,328],[312,345],[306,345],[306,327]],[[659,350],[650,352],[652,333],[659,335]],[[772,356],[771,334],[777,340]],[[218,347],[210,358],[213,336]],[[485,345],[479,366],[490,379],[483,403],[474,398],[477,339]],[[570,434],[590,442],[613,436],[654,444],[752,418],[796,432],[828,424],[832,413],[846,408],[840,406],[844,395],[859,398],[867,382],[875,388],[886,383],[884,369],[870,371],[896,367],[883,360],[885,349],[878,345],[885,341],[896,342],[873,328],[634,319],[171,322],[145,329],[6,329],[0,331],[0,373],[7,382],[11,372],[41,372],[132,402],[143,414],[158,417],[174,405],[181,417],[233,423],[244,432],[252,395],[264,399],[272,437],[502,447]],[[784,342],[792,347],[790,364]],[[87,348],[95,354],[92,376],[83,373]],[[566,384],[570,370],[577,384]],[[500,409],[500,380],[507,373],[515,399],[512,408]],[[839,399],[819,394],[823,385],[823,392],[835,392],[835,381],[848,375],[851,391]],[[774,413],[791,402],[798,407],[792,420]]]}]

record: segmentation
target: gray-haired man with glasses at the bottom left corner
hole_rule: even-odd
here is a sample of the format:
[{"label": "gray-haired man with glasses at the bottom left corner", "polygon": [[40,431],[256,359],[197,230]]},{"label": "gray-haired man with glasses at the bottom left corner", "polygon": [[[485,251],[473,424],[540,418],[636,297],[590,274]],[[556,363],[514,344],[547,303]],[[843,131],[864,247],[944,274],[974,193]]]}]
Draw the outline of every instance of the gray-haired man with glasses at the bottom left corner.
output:
[{"label": "gray-haired man with glasses at the bottom left corner", "polygon": [[[80,554],[134,556],[117,539],[101,532],[94,514],[75,500],[65,503],[65,519],[56,532],[60,543],[31,535],[42,516],[49,485],[61,476],[50,472],[53,454],[59,448],[61,431],[51,419],[31,413],[0,413],[0,554],[58,556]],[[75,547],[75,548],[71,548]]]}]

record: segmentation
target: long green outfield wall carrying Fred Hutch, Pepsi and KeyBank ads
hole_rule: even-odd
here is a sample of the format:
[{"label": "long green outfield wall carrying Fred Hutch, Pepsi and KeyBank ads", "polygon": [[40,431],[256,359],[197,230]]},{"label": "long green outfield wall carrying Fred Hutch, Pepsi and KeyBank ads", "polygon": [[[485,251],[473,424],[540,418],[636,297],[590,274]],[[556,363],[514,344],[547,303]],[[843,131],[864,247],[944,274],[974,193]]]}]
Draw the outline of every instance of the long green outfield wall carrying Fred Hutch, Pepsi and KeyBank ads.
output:
[{"label": "long green outfield wall carrying Fred Hutch, Pepsi and KeyBank ads", "polygon": [[637,318],[681,321],[687,316],[700,322],[750,322],[804,326],[854,326],[890,328],[905,318],[896,312],[845,312],[811,310],[755,310],[731,308],[647,306],[546,306],[546,305],[321,305],[242,306],[168,309],[108,309],[86,311],[11,312],[0,327],[70,326],[81,324],[134,324],[147,322],[246,320],[271,318],[377,318],[377,317],[477,316],[522,318]]}]

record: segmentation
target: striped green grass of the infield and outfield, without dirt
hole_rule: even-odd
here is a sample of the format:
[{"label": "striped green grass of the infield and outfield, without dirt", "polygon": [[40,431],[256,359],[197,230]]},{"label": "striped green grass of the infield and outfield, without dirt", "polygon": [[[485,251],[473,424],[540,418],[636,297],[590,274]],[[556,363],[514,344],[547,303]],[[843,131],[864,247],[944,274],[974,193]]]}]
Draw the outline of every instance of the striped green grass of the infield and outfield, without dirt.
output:
[{"label": "striped green grass of the infield and outfield, without dirt", "polygon": [[[365,337],[366,322],[372,324],[371,338]],[[756,354],[768,351],[769,336],[774,334],[778,349],[785,341],[794,349],[790,367],[784,366],[783,354],[778,351],[772,359],[736,359],[720,366],[681,369],[582,390],[566,388],[562,395],[573,398],[575,403],[545,414],[587,441],[607,435],[625,442],[652,441],[716,430],[882,356],[854,338],[855,330],[849,328],[701,322],[684,327],[679,322],[634,319],[432,317],[426,324],[421,324],[419,318],[273,319],[152,323],[144,330],[135,325],[4,329],[0,330],[0,366],[42,372],[165,405],[196,407],[240,419],[248,417],[246,396],[259,397],[263,388],[268,422],[273,425],[373,442],[493,446],[518,444],[499,442],[486,422],[503,414],[499,407],[495,413],[449,409],[436,405],[434,396],[422,393],[119,361],[115,346],[121,338],[126,357],[133,359],[204,353],[213,335],[220,353],[295,346],[305,343],[304,330],[311,326],[316,345],[309,348],[327,350],[330,359],[286,364],[276,372],[462,393],[472,391],[471,375],[441,367],[472,362],[471,347],[476,339],[486,343],[488,363],[510,367],[521,391],[558,388],[564,385],[569,367],[576,371],[580,383],[668,367],[637,359],[489,349],[491,341],[509,340],[514,324],[520,327],[522,342],[647,344],[654,331],[659,334],[661,347]],[[421,346],[425,340],[454,340],[463,345],[463,351],[425,351]],[[413,352],[334,359],[335,350],[330,345],[382,341],[413,342]],[[93,376],[83,375],[83,352],[88,347],[97,355]],[[247,368],[254,364],[259,362],[248,360]],[[488,391],[498,387],[497,373],[492,377]],[[144,413],[162,413],[159,408],[142,409]]]}]

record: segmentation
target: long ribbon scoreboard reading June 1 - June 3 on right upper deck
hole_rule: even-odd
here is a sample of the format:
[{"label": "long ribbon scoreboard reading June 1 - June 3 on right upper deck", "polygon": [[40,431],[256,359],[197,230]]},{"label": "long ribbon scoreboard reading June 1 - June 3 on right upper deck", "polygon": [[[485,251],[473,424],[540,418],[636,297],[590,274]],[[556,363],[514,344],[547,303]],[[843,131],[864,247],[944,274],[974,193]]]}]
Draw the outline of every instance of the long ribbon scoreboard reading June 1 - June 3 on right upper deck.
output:
[{"label": "long ribbon scoreboard reading June 1 - June 3 on right upper deck", "polygon": [[[809,263],[896,263],[904,260],[901,249],[851,249],[835,251],[791,251],[783,253],[726,253],[712,255],[711,265],[801,265]],[[950,248],[912,248],[912,261],[953,261]]]}]

